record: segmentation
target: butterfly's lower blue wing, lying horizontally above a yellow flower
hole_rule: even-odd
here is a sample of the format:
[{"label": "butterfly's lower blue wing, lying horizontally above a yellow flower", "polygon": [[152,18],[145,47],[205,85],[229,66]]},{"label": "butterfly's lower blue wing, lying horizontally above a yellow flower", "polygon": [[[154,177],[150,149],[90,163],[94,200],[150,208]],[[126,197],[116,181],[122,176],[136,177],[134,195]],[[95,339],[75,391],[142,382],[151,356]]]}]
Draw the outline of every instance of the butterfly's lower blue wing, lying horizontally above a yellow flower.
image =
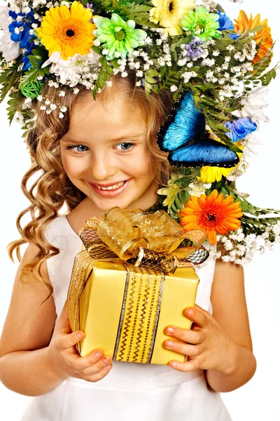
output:
[{"label": "butterfly's lower blue wing, lying horizontally above a yellow flower", "polygon": [[239,156],[226,145],[211,138],[188,142],[168,156],[174,166],[200,167],[220,166],[231,168],[239,163]]}]

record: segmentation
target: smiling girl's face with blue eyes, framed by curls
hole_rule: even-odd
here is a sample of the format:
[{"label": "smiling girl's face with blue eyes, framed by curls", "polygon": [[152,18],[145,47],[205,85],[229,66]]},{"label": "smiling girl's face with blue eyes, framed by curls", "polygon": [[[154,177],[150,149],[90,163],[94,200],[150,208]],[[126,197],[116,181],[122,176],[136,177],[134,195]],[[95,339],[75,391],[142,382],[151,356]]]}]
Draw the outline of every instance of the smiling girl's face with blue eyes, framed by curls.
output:
[{"label": "smiling girl's face with blue eyes, framed by curls", "polygon": [[157,201],[148,154],[146,122],[135,102],[111,95],[106,106],[89,91],[71,110],[69,131],[60,140],[69,179],[94,208],[141,208]]}]

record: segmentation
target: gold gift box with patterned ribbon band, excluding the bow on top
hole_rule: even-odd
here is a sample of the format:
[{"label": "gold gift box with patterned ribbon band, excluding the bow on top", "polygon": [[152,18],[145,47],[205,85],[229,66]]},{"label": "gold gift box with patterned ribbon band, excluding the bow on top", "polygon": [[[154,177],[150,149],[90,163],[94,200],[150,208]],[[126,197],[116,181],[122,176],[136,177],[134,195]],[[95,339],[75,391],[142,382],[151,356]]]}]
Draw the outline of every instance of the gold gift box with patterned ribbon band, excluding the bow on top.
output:
[{"label": "gold gift box with patterned ribbon band, excluding the bow on top", "polygon": [[[76,256],[76,267],[83,253],[87,252]],[[169,276],[125,262],[91,260],[83,273],[72,326],[72,330],[85,331],[85,339],[78,343],[81,356],[101,348],[116,361],[185,361],[185,356],[166,349],[163,342],[169,338],[164,333],[168,325],[190,329],[183,309],[195,304],[199,279],[192,267],[176,269]]]}]

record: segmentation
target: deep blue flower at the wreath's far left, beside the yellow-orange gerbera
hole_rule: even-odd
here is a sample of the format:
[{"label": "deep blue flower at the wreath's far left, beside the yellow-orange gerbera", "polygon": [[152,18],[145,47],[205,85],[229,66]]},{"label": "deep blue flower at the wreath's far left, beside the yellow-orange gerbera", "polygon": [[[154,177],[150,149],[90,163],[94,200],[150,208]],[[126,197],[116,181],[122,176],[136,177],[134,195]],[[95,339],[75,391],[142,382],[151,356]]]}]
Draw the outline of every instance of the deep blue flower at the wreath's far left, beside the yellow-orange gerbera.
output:
[{"label": "deep blue flower at the wreath's far left, beside the yellow-orange gerbera", "polygon": [[[28,55],[31,55],[31,51],[35,47],[33,41],[34,35],[29,34],[30,29],[33,29],[32,23],[36,23],[34,11],[30,11],[29,13],[15,13],[14,11],[9,11],[9,15],[13,19],[13,22],[8,26],[10,39],[14,42],[19,42],[20,48],[24,48],[25,52],[22,54],[22,62],[24,65],[22,70],[25,71],[31,67]],[[18,16],[20,16],[20,20],[17,19]]]}]

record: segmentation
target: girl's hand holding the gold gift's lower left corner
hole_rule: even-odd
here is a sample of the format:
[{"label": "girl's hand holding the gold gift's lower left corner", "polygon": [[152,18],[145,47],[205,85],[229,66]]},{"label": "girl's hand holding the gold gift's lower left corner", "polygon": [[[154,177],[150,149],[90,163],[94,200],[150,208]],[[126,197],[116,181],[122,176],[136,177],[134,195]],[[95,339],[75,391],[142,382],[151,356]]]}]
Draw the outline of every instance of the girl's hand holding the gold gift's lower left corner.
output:
[{"label": "girl's hand holding the gold gift's lower left corner", "polygon": [[[79,334],[82,335],[80,338]],[[111,356],[105,355],[102,358],[104,356],[102,349],[94,349],[87,356],[80,356],[74,345],[83,338],[85,338],[83,331],[77,330],[71,333],[65,302],[48,346],[50,361],[63,378],[70,376],[87,382],[97,382],[109,373],[112,367]]]}]

